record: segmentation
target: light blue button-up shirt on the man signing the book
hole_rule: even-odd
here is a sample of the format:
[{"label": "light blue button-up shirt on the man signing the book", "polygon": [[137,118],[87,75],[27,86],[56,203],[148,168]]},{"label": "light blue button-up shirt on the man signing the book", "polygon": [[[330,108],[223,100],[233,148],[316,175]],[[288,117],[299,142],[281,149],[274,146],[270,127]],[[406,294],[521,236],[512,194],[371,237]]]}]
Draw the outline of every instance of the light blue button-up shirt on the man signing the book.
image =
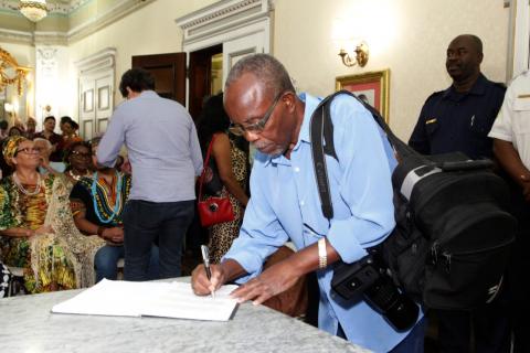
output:
[{"label": "light blue button-up shirt on the man signing the book", "polygon": [[[307,94],[300,98],[306,103],[304,122],[290,160],[259,152],[254,160],[252,197],[240,236],[225,255],[250,274],[242,282],[258,276],[265,259],[289,238],[300,249],[325,235],[342,260],[352,263],[367,255],[364,248],[381,243],[395,224],[392,148],[370,113],[346,95],[331,105],[339,161],[326,156],[335,216],[330,223],[324,217],[309,138],[309,119],[319,100]],[[322,330],[336,334],[340,322],[349,341],[374,352],[388,352],[406,336],[364,301],[348,307],[333,299],[331,267],[317,275]]]}]

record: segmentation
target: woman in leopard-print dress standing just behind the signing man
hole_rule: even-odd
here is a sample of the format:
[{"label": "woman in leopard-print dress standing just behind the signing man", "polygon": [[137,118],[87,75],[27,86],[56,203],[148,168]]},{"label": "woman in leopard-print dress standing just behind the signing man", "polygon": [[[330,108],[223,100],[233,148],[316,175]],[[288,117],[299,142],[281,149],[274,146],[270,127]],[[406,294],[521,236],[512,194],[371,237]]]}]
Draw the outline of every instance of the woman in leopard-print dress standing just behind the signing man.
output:
[{"label": "woman in leopard-print dress standing just behind the signing man", "polygon": [[[223,95],[210,97],[204,104],[198,124],[199,141],[203,153],[212,143],[211,158],[214,160],[215,173],[222,183],[220,192],[227,193],[230,203],[234,210],[235,220],[212,225],[210,233],[210,260],[219,264],[224,254],[229,250],[232,242],[240,233],[243,210],[248,202],[245,193],[248,176],[248,143],[236,140],[235,136],[229,136],[227,128],[230,118],[223,108]],[[212,191],[210,191],[212,192]]]}]

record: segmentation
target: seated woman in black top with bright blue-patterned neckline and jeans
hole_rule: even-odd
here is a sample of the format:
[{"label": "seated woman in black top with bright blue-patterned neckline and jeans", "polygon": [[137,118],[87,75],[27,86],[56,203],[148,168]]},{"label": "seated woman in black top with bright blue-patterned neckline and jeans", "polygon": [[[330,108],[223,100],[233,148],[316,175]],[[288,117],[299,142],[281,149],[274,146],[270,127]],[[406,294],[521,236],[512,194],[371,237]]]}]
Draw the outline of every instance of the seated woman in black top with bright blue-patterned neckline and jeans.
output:
[{"label": "seated woman in black top with bright blue-patterned neckline and jeans", "polygon": [[[124,257],[121,213],[130,192],[130,175],[114,168],[97,164],[96,151],[100,138],[92,140],[96,172],[81,178],[70,194],[77,228],[85,235],[96,235],[106,242],[95,255],[96,281],[117,278],[117,263]],[[149,278],[158,278],[158,247],[151,249]]]}]

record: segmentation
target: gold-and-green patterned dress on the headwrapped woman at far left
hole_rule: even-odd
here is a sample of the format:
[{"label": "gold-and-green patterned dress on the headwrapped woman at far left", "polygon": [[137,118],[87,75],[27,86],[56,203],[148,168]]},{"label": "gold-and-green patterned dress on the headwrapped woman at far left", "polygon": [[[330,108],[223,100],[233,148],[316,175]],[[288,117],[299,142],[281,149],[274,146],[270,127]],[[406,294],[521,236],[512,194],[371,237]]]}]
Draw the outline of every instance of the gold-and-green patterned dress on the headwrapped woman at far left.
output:
[{"label": "gold-and-green patterned dress on the headwrapped woman at far left", "polygon": [[[54,181],[57,181],[54,183]],[[36,195],[26,195],[12,176],[0,181],[0,231],[21,227],[38,229],[51,225],[49,210],[54,189],[64,184],[54,175],[41,180]],[[29,188],[29,185],[22,185]],[[66,252],[65,252],[66,250]],[[6,265],[23,267],[26,289],[32,293],[76,288],[74,265],[57,234],[26,237],[0,236],[0,254]]]}]

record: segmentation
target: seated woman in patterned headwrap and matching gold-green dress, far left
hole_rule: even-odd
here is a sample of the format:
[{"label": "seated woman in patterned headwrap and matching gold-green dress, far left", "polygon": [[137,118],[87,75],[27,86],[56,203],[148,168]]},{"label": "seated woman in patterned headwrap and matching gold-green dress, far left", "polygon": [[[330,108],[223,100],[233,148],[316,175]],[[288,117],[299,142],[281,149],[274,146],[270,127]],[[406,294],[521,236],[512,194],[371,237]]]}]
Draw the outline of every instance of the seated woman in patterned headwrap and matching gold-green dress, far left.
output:
[{"label": "seated woman in patterned headwrap and matching gold-green dress, far left", "polygon": [[76,288],[75,259],[50,221],[54,190],[62,181],[36,172],[39,151],[22,136],[6,140],[2,153],[14,172],[0,181],[0,257],[24,268],[31,293]]}]

